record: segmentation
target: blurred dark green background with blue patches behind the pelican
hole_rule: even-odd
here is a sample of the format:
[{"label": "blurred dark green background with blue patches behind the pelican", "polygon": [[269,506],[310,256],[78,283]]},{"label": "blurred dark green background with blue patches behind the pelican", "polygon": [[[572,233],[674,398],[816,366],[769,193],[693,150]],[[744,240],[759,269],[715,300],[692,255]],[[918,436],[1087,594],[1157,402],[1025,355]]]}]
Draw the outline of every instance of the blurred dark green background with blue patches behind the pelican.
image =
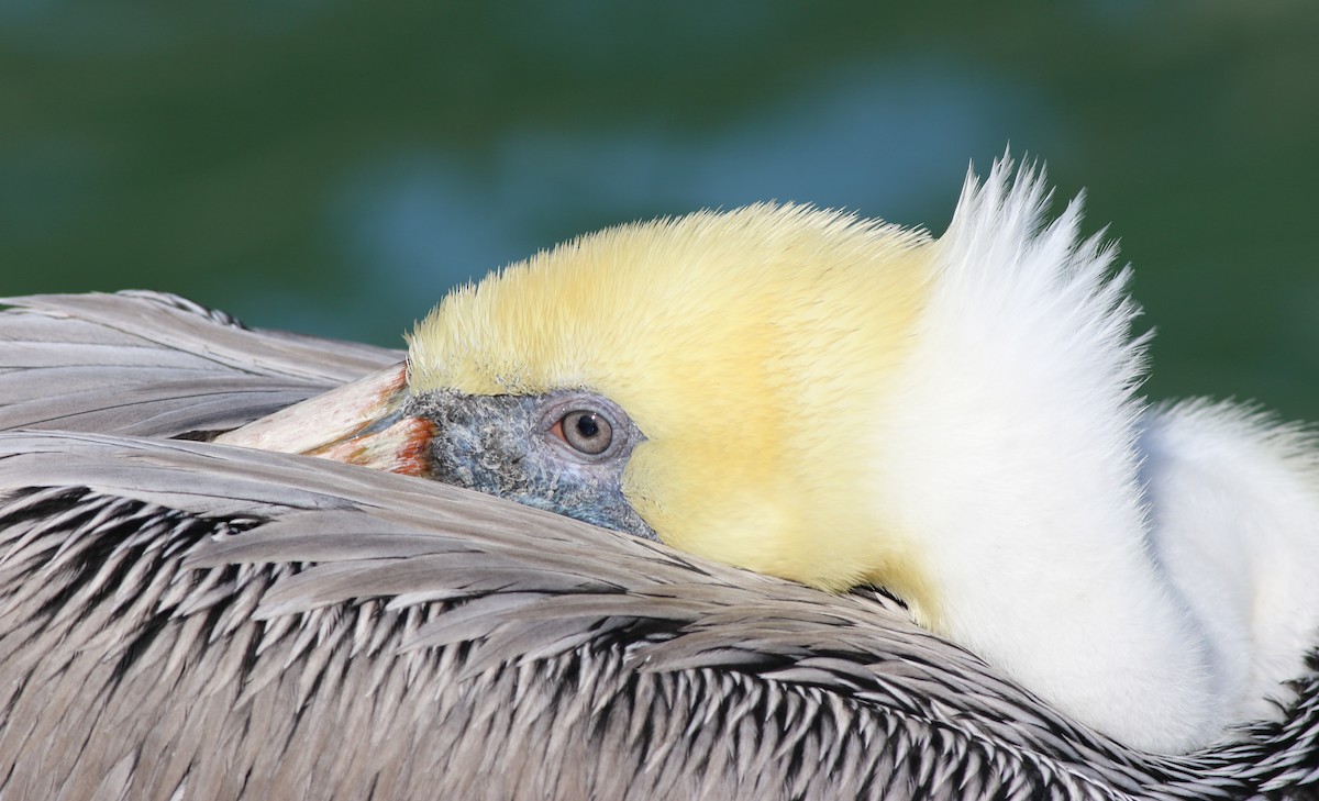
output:
[{"label": "blurred dark green background with blue patches behind the pelican", "polygon": [[757,199],[1088,187],[1157,397],[1319,418],[1319,4],[0,0],[0,292],[401,344],[455,282]]}]

